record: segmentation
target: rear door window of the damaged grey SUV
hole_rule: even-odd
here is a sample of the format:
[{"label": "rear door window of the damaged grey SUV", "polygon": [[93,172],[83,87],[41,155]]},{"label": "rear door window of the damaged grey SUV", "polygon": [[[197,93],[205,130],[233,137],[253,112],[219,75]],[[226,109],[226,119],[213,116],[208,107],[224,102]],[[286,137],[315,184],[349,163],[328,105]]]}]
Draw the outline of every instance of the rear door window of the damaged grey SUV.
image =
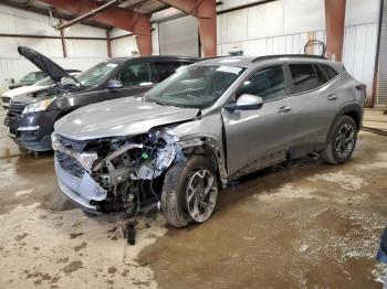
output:
[{"label": "rear door window of the damaged grey SUV", "polygon": [[290,64],[289,68],[293,78],[293,93],[304,93],[320,86],[312,64]]}]

